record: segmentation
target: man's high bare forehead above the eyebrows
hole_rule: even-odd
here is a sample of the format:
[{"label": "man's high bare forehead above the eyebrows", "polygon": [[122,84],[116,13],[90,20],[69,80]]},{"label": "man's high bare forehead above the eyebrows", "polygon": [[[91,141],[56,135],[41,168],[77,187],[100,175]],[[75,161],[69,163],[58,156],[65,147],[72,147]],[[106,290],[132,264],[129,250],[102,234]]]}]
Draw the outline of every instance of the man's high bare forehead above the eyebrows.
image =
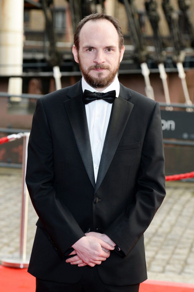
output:
[{"label": "man's high bare forehead above the eyebrows", "polygon": [[114,25],[106,20],[89,20],[80,30],[80,46],[90,44],[119,45],[119,35]]}]

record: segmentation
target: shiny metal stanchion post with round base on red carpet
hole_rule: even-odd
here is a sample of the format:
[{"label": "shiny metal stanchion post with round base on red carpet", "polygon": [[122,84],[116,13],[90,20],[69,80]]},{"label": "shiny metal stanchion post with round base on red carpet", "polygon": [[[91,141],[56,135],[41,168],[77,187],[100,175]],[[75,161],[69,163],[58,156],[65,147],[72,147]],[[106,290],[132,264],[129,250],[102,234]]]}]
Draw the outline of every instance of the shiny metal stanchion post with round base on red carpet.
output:
[{"label": "shiny metal stanchion post with round base on red carpet", "polygon": [[30,133],[24,133],[23,136],[23,157],[22,157],[22,210],[21,210],[21,230],[20,230],[20,255],[18,258],[3,258],[1,265],[5,267],[27,268],[29,261],[26,258],[27,246],[27,225],[28,225],[28,191],[25,182],[27,165],[27,146]]}]

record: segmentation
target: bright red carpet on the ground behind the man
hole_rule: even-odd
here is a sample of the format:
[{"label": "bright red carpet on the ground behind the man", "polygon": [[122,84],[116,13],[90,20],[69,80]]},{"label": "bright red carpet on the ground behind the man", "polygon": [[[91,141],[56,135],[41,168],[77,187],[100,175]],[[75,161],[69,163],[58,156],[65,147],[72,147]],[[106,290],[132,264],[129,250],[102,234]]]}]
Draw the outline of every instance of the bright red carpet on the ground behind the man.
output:
[{"label": "bright red carpet on the ground behind the man", "polygon": [[[27,269],[0,266],[1,292],[34,292],[35,278]],[[140,292],[194,292],[194,284],[147,280],[140,285]]]}]

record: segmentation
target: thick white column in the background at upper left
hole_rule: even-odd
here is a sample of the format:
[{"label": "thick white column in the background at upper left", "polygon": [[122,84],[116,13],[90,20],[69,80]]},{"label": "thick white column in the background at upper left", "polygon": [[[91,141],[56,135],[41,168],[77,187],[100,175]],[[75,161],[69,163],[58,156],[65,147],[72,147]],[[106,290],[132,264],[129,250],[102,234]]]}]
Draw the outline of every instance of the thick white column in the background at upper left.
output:
[{"label": "thick white column in the background at upper left", "polygon": [[[0,0],[0,76],[22,74],[23,25],[24,0]],[[9,78],[8,93],[22,93],[22,78]]]}]

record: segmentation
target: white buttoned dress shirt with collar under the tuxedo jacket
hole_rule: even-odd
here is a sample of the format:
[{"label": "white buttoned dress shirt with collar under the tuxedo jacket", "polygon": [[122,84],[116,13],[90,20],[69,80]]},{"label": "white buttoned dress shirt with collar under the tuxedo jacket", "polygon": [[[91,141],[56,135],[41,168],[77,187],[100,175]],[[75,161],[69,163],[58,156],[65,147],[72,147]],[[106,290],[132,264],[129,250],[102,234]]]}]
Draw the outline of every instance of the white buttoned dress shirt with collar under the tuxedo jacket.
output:
[{"label": "white buttoned dress shirt with collar under the tuxedo jacket", "polygon": [[[91,87],[85,79],[82,77],[82,90],[87,89],[91,92],[99,92]],[[103,91],[101,92],[108,92],[111,90],[116,91],[116,97],[119,96],[119,80],[116,75],[114,81]],[[92,152],[92,159],[94,165],[94,176],[95,181],[98,175],[98,168],[100,165],[100,158],[103,150],[105,135],[110,119],[110,113],[112,109],[112,103],[108,103],[104,100],[94,100],[87,105],[86,107],[86,115],[87,115],[87,122],[88,122],[88,129],[90,135],[90,144],[91,144],[91,152]]]}]

